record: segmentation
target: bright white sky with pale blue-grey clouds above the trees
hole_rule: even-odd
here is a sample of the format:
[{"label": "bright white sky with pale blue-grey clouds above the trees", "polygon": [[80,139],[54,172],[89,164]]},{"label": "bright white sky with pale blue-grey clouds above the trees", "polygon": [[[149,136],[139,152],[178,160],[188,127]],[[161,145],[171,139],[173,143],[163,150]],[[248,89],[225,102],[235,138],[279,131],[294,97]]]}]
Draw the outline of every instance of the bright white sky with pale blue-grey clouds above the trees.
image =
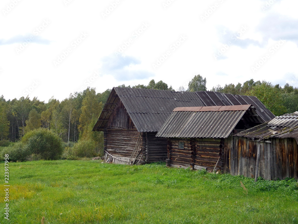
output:
[{"label": "bright white sky with pale blue-grey clouds above the trees", "polygon": [[249,79],[298,87],[297,0],[1,0],[0,96]]}]

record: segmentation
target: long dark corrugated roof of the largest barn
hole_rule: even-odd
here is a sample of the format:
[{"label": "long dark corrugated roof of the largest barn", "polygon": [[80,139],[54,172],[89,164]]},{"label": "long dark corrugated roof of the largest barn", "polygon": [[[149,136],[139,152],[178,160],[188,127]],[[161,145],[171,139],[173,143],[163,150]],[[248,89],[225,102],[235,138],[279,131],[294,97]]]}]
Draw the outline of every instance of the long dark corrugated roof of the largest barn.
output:
[{"label": "long dark corrugated roof of the largest barn", "polygon": [[172,92],[167,90],[114,87],[93,131],[103,131],[121,100],[139,132],[157,132],[176,107],[247,105],[255,107],[263,122],[274,115],[254,96],[239,96],[210,91]]}]

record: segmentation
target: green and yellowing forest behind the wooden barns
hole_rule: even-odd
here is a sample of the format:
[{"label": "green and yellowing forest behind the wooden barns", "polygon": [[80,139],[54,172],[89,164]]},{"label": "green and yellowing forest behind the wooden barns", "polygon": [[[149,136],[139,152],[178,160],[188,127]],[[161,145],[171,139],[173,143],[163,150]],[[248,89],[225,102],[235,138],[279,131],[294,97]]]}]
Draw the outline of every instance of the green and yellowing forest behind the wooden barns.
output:
[{"label": "green and yellowing forest behind the wooden barns", "polygon": [[[177,91],[207,90],[206,82],[206,78],[196,75],[190,80],[187,90],[181,86]],[[172,86],[169,87],[163,81],[155,82],[153,79],[148,85],[119,87],[175,91]],[[217,85],[210,91],[256,96],[276,116],[298,111],[298,89],[288,83],[282,87],[264,80],[255,82],[251,79],[243,84]],[[37,96],[33,99],[27,96],[6,100],[2,95],[0,97],[0,146],[18,142],[26,133],[42,128],[51,130],[59,136],[66,149],[77,142],[89,141],[100,155],[103,153],[103,134],[91,130],[110,92],[111,89],[107,89],[102,93],[96,93],[95,88],[88,87],[82,92],[71,93],[61,102],[54,98],[44,102]]]}]

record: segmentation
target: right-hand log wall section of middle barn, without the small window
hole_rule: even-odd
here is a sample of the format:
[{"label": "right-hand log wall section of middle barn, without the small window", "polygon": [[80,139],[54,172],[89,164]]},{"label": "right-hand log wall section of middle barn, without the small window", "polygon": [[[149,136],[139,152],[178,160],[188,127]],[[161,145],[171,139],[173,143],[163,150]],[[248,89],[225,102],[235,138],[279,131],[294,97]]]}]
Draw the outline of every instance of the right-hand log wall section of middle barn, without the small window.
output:
[{"label": "right-hand log wall section of middle barn, without the small window", "polygon": [[197,141],[195,165],[214,169],[218,158],[216,170],[224,170],[224,139],[199,138]]}]

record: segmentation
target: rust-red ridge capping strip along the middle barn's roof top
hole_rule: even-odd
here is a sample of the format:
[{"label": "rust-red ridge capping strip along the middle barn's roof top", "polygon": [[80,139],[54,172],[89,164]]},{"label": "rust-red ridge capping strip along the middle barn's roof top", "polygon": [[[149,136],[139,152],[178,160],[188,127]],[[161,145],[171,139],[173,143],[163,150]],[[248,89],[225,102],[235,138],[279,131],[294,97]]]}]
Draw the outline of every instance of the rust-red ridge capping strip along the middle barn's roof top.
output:
[{"label": "rust-red ridge capping strip along the middle barn's roof top", "polygon": [[210,106],[210,107],[176,107],[173,112],[176,111],[247,111],[252,105],[232,105],[232,106]]}]

